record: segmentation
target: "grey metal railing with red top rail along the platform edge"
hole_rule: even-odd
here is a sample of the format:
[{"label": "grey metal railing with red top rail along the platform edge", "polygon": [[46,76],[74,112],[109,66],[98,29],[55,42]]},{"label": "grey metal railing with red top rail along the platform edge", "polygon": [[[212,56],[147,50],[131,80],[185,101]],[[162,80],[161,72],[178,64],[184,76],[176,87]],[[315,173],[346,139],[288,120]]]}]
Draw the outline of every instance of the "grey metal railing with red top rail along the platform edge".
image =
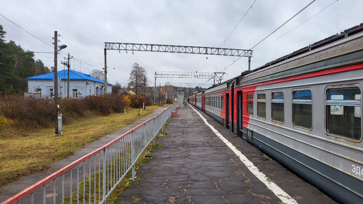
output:
[{"label": "grey metal railing with red top rail along the platform edge", "polygon": [[[110,143],[70,163],[4,201],[15,203],[106,203],[107,197],[132,170],[155,136],[163,131],[176,103]],[[76,177],[76,178],[75,178]]]}]

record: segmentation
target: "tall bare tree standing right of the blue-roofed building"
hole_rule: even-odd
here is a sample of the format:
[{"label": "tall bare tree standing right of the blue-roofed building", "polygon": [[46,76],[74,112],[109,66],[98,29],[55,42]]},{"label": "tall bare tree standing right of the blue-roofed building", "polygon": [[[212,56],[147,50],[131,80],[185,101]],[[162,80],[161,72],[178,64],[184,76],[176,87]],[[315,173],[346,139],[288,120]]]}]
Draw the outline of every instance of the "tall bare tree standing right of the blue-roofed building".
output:
[{"label": "tall bare tree standing right of the blue-roofed building", "polygon": [[145,85],[148,85],[146,70],[137,62],[132,65],[128,87],[133,89],[136,94],[144,93]]}]

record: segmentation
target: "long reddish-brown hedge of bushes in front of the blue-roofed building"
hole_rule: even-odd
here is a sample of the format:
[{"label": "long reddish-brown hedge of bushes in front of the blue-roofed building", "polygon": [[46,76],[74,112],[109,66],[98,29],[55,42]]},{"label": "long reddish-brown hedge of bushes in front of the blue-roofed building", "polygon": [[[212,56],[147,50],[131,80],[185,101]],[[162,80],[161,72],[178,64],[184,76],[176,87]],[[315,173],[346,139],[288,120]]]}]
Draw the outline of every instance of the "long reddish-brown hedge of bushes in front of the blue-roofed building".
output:
[{"label": "long reddish-brown hedge of bushes in front of the blue-roofed building", "polygon": [[[140,97],[135,100],[138,101]],[[107,94],[103,96],[89,95],[85,98],[64,98],[58,101],[59,111],[63,121],[68,122],[87,114],[110,114],[123,112],[127,103],[131,103],[129,96],[122,94]],[[142,106],[142,103],[141,103]],[[11,119],[15,123],[25,125],[50,126],[54,124],[54,99],[34,98],[22,95],[8,94],[0,96],[0,117]]]}]

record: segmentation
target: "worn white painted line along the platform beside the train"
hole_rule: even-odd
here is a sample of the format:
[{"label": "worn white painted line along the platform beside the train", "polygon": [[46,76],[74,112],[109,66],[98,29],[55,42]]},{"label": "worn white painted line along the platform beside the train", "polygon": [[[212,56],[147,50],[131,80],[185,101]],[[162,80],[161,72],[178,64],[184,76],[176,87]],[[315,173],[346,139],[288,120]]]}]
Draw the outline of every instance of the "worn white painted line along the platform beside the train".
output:
[{"label": "worn white painted line along the platform beside the train", "polygon": [[207,120],[198,112],[196,111],[192,106],[190,106],[204,121],[206,125],[208,125],[212,131],[225,143],[231,150],[240,158],[240,160],[246,165],[248,170],[252,172],[262,183],[264,183],[282,202],[284,203],[296,203],[296,200],[290,197],[285,191],[283,191],[280,187],[278,187],[275,183],[272,181],[268,181],[268,178],[265,174],[260,172],[256,166],[253,165],[250,160],[246,158],[245,155],[243,155],[239,150],[236,149],[236,147],[233,146],[231,142],[229,142],[227,139],[224,138],[223,135],[221,135],[212,125],[210,125]]}]

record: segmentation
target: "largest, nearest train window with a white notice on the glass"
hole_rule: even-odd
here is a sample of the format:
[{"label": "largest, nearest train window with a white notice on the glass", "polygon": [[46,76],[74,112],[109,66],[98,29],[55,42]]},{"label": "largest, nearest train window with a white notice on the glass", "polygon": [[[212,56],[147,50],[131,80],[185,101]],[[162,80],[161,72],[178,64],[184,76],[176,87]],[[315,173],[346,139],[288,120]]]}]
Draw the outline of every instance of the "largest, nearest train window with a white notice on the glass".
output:
[{"label": "largest, nearest train window with a white notice on the glass", "polygon": [[352,139],[361,137],[362,105],[358,87],[327,89],[326,131]]}]

